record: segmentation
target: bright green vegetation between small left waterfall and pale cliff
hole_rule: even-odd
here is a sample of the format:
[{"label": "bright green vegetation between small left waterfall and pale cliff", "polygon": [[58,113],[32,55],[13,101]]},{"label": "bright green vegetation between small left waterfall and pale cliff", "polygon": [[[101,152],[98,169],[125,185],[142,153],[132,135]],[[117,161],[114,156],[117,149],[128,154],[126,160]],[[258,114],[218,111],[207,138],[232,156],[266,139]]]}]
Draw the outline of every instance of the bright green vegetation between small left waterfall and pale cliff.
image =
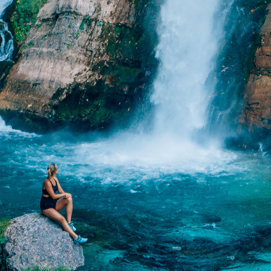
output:
[{"label": "bright green vegetation between small left waterfall and pale cliff", "polygon": [[[18,0],[10,19],[11,29],[17,42],[22,42],[36,23],[37,14],[47,0]],[[39,27],[39,26],[37,26]]]}]

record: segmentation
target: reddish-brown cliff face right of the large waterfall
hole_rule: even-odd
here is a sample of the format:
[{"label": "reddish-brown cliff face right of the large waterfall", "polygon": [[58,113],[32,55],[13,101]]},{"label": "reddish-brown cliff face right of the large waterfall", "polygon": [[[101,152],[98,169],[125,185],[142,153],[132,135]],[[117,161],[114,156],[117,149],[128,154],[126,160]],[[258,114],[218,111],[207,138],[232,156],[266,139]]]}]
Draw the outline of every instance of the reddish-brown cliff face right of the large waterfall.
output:
[{"label": "reddish-brown cliff face right of the large waterfall", "polygon": [[252,70],[244,92],[241,122],[250,131],[271,128],[271,4],[261,27],[261,46],[255,53]]}]

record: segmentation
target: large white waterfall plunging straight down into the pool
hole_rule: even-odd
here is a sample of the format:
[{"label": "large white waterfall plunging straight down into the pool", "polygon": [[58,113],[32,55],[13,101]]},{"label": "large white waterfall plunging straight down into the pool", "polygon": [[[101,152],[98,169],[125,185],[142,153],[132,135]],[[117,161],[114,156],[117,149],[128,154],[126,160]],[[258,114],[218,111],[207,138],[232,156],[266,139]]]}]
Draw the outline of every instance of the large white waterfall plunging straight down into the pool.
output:
[{"label": "large white waterfall plunging straight down into the pool", "polygon": [[213,25],[219,4],[219,0],[168,0],[161,8],[156,49],[160,66],[152,94],[157,133],[189,139],[206,123],[212,93],[205,81],[218,45]]}]

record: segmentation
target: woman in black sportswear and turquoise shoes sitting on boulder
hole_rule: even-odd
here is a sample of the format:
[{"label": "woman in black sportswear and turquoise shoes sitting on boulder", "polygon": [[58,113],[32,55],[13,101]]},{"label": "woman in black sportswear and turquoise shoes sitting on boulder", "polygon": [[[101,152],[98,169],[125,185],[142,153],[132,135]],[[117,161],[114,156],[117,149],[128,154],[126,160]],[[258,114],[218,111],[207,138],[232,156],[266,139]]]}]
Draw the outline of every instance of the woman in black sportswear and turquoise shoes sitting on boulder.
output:
[{"label": "woman in black sportswear and turquoise shoes sitting on boulder", "polygon": [[[65,193],[61,188],[57,177],[58,167],[56,164],[51,164],[47,168],[48,177],[44,180],[42,185],[42,198],[40,201],[40,209],[42,213],[61,223],[63,229],[67,231],[73,238],[75,243],[84,243],[88,239],[82,238],[77,235],[74,231],[76,228],[71,222],[71,216],[73,212],[73,200],[70,193]],[[55,192],[58,190],[59,194]],[[62,210],[66,206],[67,221],[58,211]]]}]

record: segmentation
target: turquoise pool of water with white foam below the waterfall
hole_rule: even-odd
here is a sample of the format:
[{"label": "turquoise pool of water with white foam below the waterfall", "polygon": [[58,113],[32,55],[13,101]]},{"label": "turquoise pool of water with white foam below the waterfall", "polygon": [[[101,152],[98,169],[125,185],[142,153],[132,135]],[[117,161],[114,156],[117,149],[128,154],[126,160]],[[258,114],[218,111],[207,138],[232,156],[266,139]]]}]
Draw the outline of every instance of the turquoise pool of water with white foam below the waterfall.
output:
[{"label": "turquoise pool of water with white foam below the waterfall", "polygon": [[169,136],[39,136],[3,121],[1,130],[1,217],[39,212],[46,167],[56,163],[89,238],[80,270],[271,269],[265,154]]}]

